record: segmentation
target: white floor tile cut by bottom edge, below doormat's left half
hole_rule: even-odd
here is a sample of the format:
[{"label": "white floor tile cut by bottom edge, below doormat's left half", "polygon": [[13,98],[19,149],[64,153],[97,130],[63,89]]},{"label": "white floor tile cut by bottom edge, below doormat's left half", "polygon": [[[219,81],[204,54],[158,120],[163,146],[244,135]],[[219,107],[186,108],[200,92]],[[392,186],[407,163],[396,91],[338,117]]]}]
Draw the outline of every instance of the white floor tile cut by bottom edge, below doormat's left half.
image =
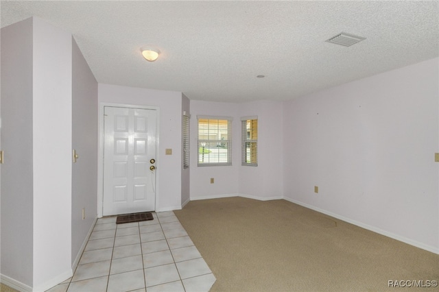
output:
[{"label": "white floor tile cut by bottom edge, below doormat's left half", "polygon": [[117,273],[108,278],[108,292],[124,292],[145,288],[143,269]]}]

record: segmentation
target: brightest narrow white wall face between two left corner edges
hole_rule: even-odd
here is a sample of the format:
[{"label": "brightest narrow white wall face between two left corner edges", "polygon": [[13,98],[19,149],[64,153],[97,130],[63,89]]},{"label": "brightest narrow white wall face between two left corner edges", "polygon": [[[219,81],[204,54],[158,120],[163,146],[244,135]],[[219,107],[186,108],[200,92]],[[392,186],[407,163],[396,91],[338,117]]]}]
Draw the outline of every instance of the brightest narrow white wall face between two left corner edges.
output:
[{"label": "brightest narrow white wall face between two left corner edges", "polygon": [[[34,289],[71,274],[71,34],[34,18]],[[66,277],[66,278],[67,278]],[[65,279],[64,279],[65,280]]]}]

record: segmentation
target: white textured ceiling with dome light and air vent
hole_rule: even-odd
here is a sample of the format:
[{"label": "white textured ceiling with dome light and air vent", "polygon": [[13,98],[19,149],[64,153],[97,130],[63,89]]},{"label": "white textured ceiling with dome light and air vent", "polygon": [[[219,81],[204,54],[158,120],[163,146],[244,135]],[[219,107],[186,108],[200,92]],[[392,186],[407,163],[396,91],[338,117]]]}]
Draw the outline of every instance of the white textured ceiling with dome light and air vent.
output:
[{"label": "white textured ceiling with dome light and air vent", "polygon": [[[439,1],[1,1],[73,34],[97,82],[287,100],[439,55]],[[346,32],[351,47],[325,42]],[[141,47],[161,51],[147,62]],[[265,77],[257,77],[264,75]]]}]

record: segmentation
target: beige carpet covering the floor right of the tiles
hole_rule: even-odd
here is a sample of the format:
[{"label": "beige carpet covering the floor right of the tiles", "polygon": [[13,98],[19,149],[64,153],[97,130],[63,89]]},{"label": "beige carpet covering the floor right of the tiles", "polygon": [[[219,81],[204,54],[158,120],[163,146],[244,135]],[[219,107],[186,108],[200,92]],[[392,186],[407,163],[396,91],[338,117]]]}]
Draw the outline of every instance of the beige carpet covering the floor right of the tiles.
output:
[{"label": "beige carpet covering the floor right of the tiles", "polygon": [[211,291],[414,291],[388,281],[439,280],[439,255],[285,200],[206,199],[174,213],[217,278]]}]

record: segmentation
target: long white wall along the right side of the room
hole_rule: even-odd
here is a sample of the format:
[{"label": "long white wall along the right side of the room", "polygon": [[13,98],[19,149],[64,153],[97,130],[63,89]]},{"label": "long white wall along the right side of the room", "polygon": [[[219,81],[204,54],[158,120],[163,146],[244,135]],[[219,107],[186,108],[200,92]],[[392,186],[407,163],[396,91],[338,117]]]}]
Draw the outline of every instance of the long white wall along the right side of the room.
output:
[{"label": "long white wall along the right side of the room", "polygon": [[436,58],[285,101],[285,197],[439,252],[438,80]]}]

